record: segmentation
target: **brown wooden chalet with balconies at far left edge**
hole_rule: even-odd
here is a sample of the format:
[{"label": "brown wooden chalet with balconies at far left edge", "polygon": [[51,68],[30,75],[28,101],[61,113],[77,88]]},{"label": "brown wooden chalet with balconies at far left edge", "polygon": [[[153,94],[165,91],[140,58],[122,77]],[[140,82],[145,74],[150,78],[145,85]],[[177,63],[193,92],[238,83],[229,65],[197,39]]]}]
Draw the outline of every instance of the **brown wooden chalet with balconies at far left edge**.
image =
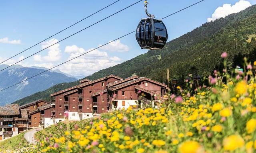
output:
[{"label": "brown wooden chalet with balconies at far left edge", "polygon": [[18,104],[0,106],[0,140],[17,135],[28,128],[28,110]]}]

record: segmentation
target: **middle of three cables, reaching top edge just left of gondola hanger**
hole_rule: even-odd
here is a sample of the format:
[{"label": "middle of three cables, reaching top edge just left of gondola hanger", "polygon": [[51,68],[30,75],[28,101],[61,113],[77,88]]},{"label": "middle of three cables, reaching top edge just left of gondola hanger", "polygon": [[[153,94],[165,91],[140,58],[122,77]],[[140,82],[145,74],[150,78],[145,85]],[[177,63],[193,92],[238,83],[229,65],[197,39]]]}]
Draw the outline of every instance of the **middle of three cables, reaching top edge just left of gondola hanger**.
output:
[{"label": "middle of three cables, reaching top edge just left of gondola hanger", "polygon": [[42,50],[40,50],[40,51],[38,51],[38,52],[36,52],[36,53],[33,53],[32,55],[29,55],[28,57],[26,57],[26,58],[24,58],[24,59],[22,59],[22,60],[20,60],[20,61],[18,61],[18,62],[16,62],[16,63],[14,63],[14,64],[12,64],[12,65],[9,65],[8,67],[6,67],[6,68],[0,70],[0,72],[3,71],[3,70],[5,70],[5,69],[7,69],[7,68],[9,68],[9,67],[11,67],[11,66],[13,66],[13,65],[15,65],[15,64],[17,64],[17,63],[20,63],[21,61],[24,61],[25,59],[27,59],[27,58],[29,58],[29,57],[31,57],[31,56],[33,56],[33,55],[36,55],[37,53],[40,53],[41,51],[44,51],[45,49],[47,49],[47,48],[49,48],[49,47],[51,47],[51,46],[53,46],[53,45],[55,45],[55,44],[57,44],[57,43],[60,43],[61,41],[65,40],[65,39],[68,39],[69,37],[72,37],[73,35],[76,35],[77,33],[80,33],[81,31],[84,31],[85,29],[88,29],[89,27],[94,26],[95,24],[98,24],[99,22],[102,22],[102,21],[104,21],[104,20],[110,18],[111,16],[114,16],[115,14],[118,14],[119,12],[122,12],[123,10],[126,10],[127,8],[130,8],[131,6],[134,6],[135,4],[137,4],[137,3],[141,2],[141,1],[142,1],[142,0],[139,0],[138,2],[136,2],[136,3],[134,3],[134,4],[131,4],[130,6],[127,6],[126,8],[123,8],[122,10],[120,10],[120,11],[114,13],[114,14],[111,14],[110,16],[107,16],[106,18],[104,18],[104,19],[102,19],[102,20],[100,20],[100,21],[98,21],[98,22],[96,22],[96,23],[94,23],[94,24],[92,24],[92,25],[90,25],[90,26],[88,26],[88,27],[86,27],[86,28],[84,28],[84,29],[82,29],[82,30],[76,32],[76,33],[73,33],[72,35],[69,35],[68,37],[65,37],[64,39],[61,39],[60,41],[58,41],[58,42],[56,42],[56,43],[54,43],[54,44],[52,44],[52,45],[50,45],[50,46],[48,46],[48,47],[42,49]]}]

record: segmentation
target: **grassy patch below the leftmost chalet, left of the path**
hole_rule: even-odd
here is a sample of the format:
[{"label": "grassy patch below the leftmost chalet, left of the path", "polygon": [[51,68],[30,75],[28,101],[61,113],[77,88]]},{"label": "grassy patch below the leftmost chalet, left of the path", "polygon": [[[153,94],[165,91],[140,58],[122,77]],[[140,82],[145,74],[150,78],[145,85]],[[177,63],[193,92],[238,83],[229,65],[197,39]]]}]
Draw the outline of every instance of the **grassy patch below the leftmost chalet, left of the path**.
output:
[{"label": "grassy patch below the leftmost chalet, left of the path", "polygon": [[16,149],[27,147],[28,141],[26,141],[26,139],[24,138],[24,134],[25,132],[4,141],[0,141],[0,152],[6,150],[16,151]]}]

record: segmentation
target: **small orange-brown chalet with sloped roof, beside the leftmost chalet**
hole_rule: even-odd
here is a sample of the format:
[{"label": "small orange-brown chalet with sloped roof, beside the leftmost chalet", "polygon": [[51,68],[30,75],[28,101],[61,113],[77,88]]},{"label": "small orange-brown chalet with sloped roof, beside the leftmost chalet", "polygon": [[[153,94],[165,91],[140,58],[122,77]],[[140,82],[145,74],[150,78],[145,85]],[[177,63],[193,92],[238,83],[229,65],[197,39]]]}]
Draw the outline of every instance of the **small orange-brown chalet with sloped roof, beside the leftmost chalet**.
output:
[{"label": "small orange-brown chalet with sloped roof, beside the leftmost chalet", "polygon": [[[40,112],[37,112],[38,108],[48,104],[48,102],[44,100],[35,100],[33,102],[29,102],[19,107],[19,109],[26,109],[28,111],[28,127],[36,128],[40,126]],[[31,112],[36,112],[31,114]]]}]

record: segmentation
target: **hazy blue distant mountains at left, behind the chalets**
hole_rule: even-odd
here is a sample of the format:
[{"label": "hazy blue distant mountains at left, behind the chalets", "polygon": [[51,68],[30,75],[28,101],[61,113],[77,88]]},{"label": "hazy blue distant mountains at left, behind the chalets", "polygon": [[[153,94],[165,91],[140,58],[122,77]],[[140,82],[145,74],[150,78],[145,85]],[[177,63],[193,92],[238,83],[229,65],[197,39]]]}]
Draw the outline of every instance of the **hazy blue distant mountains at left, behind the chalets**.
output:
[{"label": "hazy blue distant mountains at left, behind the chalets", "polygon": [[[8,65],[0,65],[0,69],[4,69],[7,66]],[[0,90],[43,72],[45,69],[46,68],[42,67],[22,67],[21,65],[14,65],[1,71]],[[2,91],[0,93],[0,106],[14,102],[15,100],[34,94],[35,92],[46,90],[60,82],[73,82],[76,80],[76,78],[60,71],[48,71],[38,77],[31,78]]]}]

